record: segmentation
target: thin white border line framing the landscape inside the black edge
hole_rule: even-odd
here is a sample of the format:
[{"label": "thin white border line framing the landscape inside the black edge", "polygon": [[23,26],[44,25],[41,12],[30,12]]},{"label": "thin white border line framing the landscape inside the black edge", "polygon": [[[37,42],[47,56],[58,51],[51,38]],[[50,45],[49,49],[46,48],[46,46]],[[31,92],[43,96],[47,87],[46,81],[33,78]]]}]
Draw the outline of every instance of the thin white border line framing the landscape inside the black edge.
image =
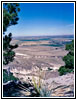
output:
[{"label": "thin white border line framing the landscape inside the black edge", "polygon": [[[3,0],[2,0],[3,1]],[[14,1],[17,1],[17,0],[11,0],[11,2],[10,2],[10,0],[7,0],[7,1],[9,1],[8,3],[14,3]],[[2,5],[3,5],[3,3],[6,3],[7,1],[5,1],[5,2],[2,2]],[[24,1],[24,0],[22,0],[22,1]],[[48,1],[50,1],[50,2],[44,2],[44,1],[46,1],[46,0],[42,0],[43,2],[40,2],[41,0],[38,0],[38,2],[36,2],[36,0],[33,0],[33,1],[35,1],[35,2],[26,2],[26,1],[24,1],[24,2],[22,2],[21,0],[18,0],[17,1],[17,3],[74,3],[72,0],[68,0],[69,2],[67,2],[67,0],[65,0],[66,2],[63,2],[63,1],[61,1],[61,0],[59,0],[59,1],[61,1],[61,2],[58,2],[58,0],[54,0],[54,2],[53,1],[50,1],[50,0],[48,0]],[[27,0],[27,1],[32,1],[32,0]],[[57,2],[55,2],[55,1],[57,1]],[[16,3],[16,2],[15,2]],[[2,7],[3,8],[3,7]],[[2,9],[2,12],[3,12],[3,9]],[[2,16],[3,16],[3,14],[2,14]],[[3,22],[3,18],[2,18],[2,22]],[[2,26],[3,26],[3,23],[2,23]],[[74,39],[75,39],[75,28],[76,28],[76,26],[75,26],[75,3],[74,3]],[[2,27],[2,33],[3,33],[3,27]],[[2,34],[2,37],[3,37],[3,34]],[[1,38],[0,38],[1,39]],[[3,40],[2,40],[2,43],[3,43]],[[74,41],[74,47],[75,47],[75,41]],[[2,45],[2,48],[3,48],[3,45]],[[74,49],[74,59],[75,59],[75,49]],[[3,61],[3,49],[2,49],[2,61]],[[75,60],[74,60],[74,65],[75,65]],[[76,66],[74,66],[74,73],[75,73],[75,67]],[[3,69],[3,66],[2,66],[2,69]],[[2,76],[3,76],[3,73],[2,73]],[[75,79],[75,74],[74,74],[74,79]],[[2,80],[3,80],[3,77],[2,77]],[[3,83],[2,83],[2,88],[3,88]],[[75,80],[74,80],[74,91],[75,91]],[[2,92],[2,95],[3,95],[3,91],[1,91]],[[76,91],[75,91],[76,92]],[[75,92],[74,92],[74,95],[75,95]],[[0,94],[1,95],[1,94]],[[40,99],[42,99],[42,98],[51,98],[51,99],[53,99],[53,97],[3,97],[2,96],[2,98],[34,98],[34,99],[36,99],[36,98],[40,98]],[[59,99],[59,98],[75,98],[75,97],[54,97],[54,99]],[[67,99],[66,99],[67,100]]]}]

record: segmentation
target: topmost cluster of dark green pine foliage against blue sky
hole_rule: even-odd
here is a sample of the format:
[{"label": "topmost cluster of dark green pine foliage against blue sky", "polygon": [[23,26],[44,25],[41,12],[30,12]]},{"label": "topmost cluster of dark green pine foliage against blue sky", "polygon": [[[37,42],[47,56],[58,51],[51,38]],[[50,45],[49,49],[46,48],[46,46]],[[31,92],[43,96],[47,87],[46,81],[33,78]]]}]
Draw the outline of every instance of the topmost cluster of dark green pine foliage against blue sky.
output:
[{"label": "topmost cluster of dark green pine foliage against blue sky", "polygon": [[20,11],[18,3],[4,3],[3,4],[3,32],[11,25],[17,24],[18,12]]}]

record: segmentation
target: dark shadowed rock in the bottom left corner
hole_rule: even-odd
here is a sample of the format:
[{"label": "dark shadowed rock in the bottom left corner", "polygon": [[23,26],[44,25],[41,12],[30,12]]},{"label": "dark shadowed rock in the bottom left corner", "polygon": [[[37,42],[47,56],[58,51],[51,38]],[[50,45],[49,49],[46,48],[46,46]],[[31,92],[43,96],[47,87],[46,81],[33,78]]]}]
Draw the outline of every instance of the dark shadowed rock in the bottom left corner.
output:
[{"label": "dark shadowed rock in the bottom left corner", "polygon": [[32,97],[38,96],[33,84],[9,81],[3,85],[4,97]]}]

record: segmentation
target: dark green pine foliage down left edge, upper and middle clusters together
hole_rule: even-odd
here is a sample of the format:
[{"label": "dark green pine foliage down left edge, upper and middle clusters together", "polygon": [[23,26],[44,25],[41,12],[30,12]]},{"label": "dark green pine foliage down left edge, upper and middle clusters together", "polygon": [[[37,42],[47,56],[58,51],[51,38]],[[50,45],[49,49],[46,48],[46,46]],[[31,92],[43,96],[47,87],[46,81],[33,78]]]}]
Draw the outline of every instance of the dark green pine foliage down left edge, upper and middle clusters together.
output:
[{"label": "dark green pine foliage down left edge, upper and middle clusters together", "polygon": [[3,64],[8,64],[14,60],[15,52],[13,49],[18,45],[11,45],[12,33],[5,34],[7,28],[16,25],[19,18],[18,12],[20,11],[18,3],[4,3],[3,4]]}]

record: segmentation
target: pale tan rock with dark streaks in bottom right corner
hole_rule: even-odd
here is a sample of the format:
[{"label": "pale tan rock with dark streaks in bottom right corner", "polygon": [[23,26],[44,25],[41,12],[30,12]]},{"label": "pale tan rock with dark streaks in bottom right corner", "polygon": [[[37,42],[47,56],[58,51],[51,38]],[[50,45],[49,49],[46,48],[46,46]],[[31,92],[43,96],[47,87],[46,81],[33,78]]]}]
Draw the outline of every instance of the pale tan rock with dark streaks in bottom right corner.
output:
[{"label": "pale tan rock with dark streaks in bottom right corner", "polygon": [[73,85],[61,85],[52,89],[52,97],[74,97]]}]

